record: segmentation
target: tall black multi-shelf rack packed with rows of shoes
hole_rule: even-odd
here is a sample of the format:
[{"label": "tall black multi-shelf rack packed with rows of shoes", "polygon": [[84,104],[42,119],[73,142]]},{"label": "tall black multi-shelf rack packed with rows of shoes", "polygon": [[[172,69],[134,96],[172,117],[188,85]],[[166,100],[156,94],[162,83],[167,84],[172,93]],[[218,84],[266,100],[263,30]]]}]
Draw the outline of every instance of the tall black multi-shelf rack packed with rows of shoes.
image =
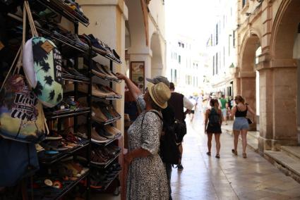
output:
[{"label": "tall black multi-shelf rack packed with rows of shoes", "polygon": [[[28,183],[28,196],[90,199],[91,189],[105,192],[112,182],[118,182],[121,172],[118,158],[122,149],[118,144],[122,134],[114,127],[121,115],[112,104],[122,98],[112,90],[113,83],[120,83],[113,73],[113,63],[121,61],[104,42],[92,35],[78,35],[78,23],[88,26],[89,20],[73,0],[29,3],[37,32],[61,51],[64,100],[54,108],[44,108],[50,132],[36,145],[40,170]],[[18,15],[11,16],[22,20]],[[56,22],[61,16],[73,24],[71,30]],[[29,39],[29,32],[26,35]],[[109,59],[109,67],[94,61],[97,55]],[[104,84],[94,83],[93,77]]]}]

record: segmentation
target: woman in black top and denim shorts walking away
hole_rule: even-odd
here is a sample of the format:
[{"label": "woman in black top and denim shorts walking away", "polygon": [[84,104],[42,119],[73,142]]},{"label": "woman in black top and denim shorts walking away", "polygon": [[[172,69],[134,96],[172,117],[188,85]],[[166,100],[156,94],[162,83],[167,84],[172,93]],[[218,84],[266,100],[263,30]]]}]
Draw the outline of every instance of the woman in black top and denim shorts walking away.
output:
[{"label": "woman in black top and denim shorts walking away", "polygon": [[[247,158],[246,146],[247,146],[247,132],[249,129],[249,122],[246,118],[247,112],[251,113],[253,121],[255,120],[255,113],[253,109],[245,104],[245,99],[241,95],[234,97],[234,102],[236,106],[232,108],[232,115],[234,115],[234,149],[232,149],[232,154],[237,156],[237,143],[239,141],[239,134],[241,133],[241,142],[243,145],[243,158]],[[251,122],[250,122],[251,123]]]}]

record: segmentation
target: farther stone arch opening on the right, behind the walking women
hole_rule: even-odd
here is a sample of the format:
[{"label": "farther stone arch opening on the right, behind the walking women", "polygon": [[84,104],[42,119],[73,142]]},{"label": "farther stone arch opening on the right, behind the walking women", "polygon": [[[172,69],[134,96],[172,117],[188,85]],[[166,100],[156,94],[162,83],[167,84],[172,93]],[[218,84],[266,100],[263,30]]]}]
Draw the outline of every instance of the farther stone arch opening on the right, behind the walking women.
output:
[{"label": "farther stone arch opening on the right, behind the walking women", "polygon": [[[256,111],[256,51],[260,47],[258,35],[250,33],[244,38],[241,46],[239,93],[246,99],[246,103]],[[250,130],[257,130],[257,124],[251,125]]]}]

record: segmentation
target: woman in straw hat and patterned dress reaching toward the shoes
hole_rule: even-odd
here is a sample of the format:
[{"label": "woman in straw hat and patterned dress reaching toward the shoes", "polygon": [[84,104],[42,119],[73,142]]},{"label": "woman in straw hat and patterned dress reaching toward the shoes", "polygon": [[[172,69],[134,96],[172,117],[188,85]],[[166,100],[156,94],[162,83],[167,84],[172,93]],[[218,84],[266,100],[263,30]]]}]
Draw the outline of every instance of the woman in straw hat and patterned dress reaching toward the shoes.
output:
[{"label": "woman in straw hat and patterned dress reaching toward the shoes", "polygon": [[162,108],[167,108],[171,92],[167,85],[148,84],[145,95],[125,75],[117,74],[136,98],[143,111],[128,129],[128,154],[124,161],[129,165],[127,199],[168,199],[167,175],[160,158]]}]

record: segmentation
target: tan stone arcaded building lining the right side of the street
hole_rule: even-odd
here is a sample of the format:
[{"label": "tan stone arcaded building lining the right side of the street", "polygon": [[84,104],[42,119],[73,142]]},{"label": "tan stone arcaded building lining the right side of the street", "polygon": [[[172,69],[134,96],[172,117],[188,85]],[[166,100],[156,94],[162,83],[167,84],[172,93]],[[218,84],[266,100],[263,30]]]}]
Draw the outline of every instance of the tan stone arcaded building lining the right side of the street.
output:
[{"label": "tan stone arcaded building lining the right side of the street", "polygon": [[[256,101],[259,103],[260,151],[296,145],[299,68],[293,49],[299,34],[300,1],[238,0],[237,3],[238,61],[232,73],[234,94],[244,96],[253,108]],[[260,55],[256,55],[258,48],[261,48]]]}]

